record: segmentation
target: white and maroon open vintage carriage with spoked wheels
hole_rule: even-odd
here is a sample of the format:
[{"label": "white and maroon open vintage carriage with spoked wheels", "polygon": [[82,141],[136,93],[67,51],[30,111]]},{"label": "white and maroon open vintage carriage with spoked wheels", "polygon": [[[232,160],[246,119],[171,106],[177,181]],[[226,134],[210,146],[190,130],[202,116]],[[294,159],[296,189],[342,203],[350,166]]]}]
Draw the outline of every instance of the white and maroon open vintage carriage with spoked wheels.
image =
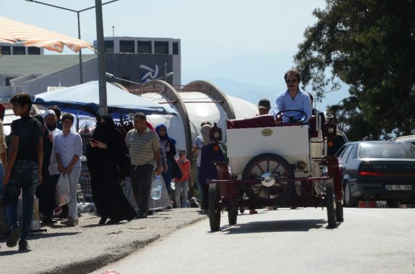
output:
[{"label": "white and maroon open vintage carriage with spoked wheels", "polygon": [[[326,207],[329,228],[343,221],[341,164],[337,157],[327,156],[336,135],[333,119],[321,126],[313,115],[302,125],[294,122],[296,117],[306,120],[301,110],[280,114],[288,120],[280,126],[273,115],[227,121],[229,162],[214,162],[218,179],[208,181],[211,231],[219,231],[222,211],[228,211],[233,225],[245,207],[321,206]],[[212,141],[221,141],[221,135],[213,126]]]}]

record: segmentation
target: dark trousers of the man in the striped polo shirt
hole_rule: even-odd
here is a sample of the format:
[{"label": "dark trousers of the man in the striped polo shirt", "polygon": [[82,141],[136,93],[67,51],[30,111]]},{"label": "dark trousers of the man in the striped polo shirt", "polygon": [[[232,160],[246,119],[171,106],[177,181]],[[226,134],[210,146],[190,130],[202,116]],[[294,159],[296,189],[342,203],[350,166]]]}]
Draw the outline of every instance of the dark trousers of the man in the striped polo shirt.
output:
[{"label": "dark trousers of the man in the striped polo shirt", "polygon": [[147,214],[149,207],[149,196],[151,187],[151,177],[154,166],[145,164],[142,166],[131,165],[131,186],[133,195],[138,204],[138,214]]}]

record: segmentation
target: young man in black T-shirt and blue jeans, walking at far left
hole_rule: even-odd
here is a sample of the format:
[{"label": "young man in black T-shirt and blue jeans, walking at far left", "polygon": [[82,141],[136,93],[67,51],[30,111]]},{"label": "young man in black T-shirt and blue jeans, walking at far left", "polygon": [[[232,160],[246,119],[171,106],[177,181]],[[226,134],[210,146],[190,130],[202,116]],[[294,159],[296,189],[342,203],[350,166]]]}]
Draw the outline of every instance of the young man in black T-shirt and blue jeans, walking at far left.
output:
[{"label": "young man in black T-shirt and blue jeans, walking at far left", "polygon": [[[32,99],[26,93],[18,93],[10,99],[12,110],[20,116],[12,122],[12,136],[8,166],[4,184],[8,184],[8,219],[11,228],[7,246],[14,247],[19,241],[19,251],[29,250],[27,238],[33,219],[33,199],[36,187],[42,183],[43,139],[42,124],[30,116]],[[23,197],[23,222],[19,228],[17,222],[17,201],[20,189]]]}]

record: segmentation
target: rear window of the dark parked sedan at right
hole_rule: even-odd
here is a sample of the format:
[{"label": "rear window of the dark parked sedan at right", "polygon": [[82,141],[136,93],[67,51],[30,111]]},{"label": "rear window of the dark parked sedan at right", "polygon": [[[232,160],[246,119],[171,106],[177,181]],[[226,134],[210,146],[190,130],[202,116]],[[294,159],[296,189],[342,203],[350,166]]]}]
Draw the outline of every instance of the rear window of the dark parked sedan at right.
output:
[{"label": "rear window of the dark parked sedan at right", "polygon": [[359,158],[415,159],[415,146],[410,143],[362,143]]}]

